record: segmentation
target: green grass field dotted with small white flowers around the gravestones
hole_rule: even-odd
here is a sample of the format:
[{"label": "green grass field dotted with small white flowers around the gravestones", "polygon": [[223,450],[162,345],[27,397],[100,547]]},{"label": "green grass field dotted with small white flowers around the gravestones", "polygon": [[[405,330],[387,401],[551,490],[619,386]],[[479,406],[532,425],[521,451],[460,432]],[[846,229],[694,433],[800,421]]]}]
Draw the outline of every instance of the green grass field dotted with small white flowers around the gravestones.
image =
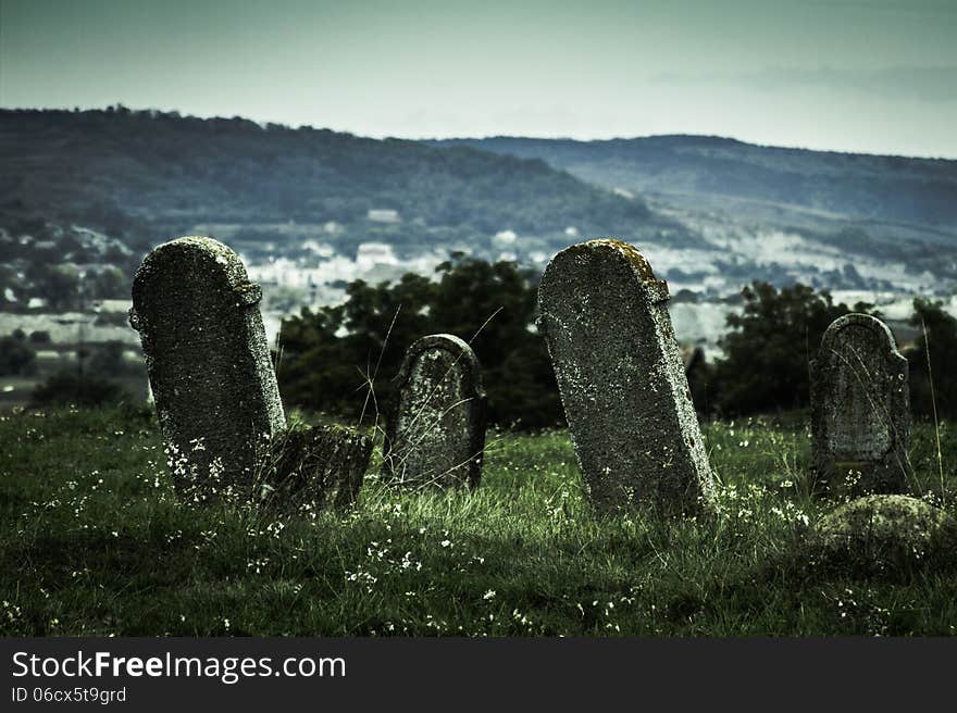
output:
[{"label": "green grass field dotted with small white flowers around the gravestones", "polygon": [[[952,635],[957,575],[808,566],[801,414],[705,427],[721,517],[596,518],[567,431],[488,434],[481,488],[366,477],[350,512],[179,505],[139,410],[0,420],[7,636]],[[915,426],[915,487],[955,511],[957,438]],[[374,471],[371,471],[374,473]]]}]

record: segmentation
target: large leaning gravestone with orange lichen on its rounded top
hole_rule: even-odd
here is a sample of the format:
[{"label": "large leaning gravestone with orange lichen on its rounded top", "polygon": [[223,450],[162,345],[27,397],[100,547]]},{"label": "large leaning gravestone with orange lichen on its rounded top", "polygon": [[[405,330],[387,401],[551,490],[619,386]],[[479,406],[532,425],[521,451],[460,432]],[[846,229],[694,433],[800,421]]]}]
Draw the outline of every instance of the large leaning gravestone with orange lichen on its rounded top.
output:
[{"label": "large leaning gravestone with orange lichen on its rounded top", "polygon": [[711,470],[668,299],[642,253],[613,239],[562,250],[538,286],[539,330],[599,511],[708,510]]}]

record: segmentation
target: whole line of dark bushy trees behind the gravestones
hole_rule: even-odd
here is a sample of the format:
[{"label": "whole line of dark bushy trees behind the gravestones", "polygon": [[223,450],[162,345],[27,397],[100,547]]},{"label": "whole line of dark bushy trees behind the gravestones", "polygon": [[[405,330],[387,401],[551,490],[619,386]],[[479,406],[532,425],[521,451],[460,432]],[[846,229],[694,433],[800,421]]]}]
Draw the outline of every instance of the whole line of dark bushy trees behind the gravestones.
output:
[{"label": "whole line of dark bushy trees behind the gravestones", "polygon": [[[563,422],[545,340],[535,332],[537,278],[514,263],[458,258],[438,268],[438,279],[408,274],[397,283],[347,288],[337,307],[303,310],[283,324],[277,376],[284,401],[365,423],[394,395],[391,378],[407,348],[435,333],[471,341],[483,367],[489,417],[502,426],[539,428]],[[744,310],[728,317],[725,358],[697,363],[689,374],[696,408],[704,415],[737,416],[809,404],[809,362],[824,330],[852,311],[881,316],[873,305],[848,307],[805,285],[781,290],[755,283],[743,290]],[[917,343],[910,360],[915,413],[957,415],[957,320],[940,303],[918,299],[911,325]],[[927,337],[924,339],[923,329]],[[928,368],[930,354],[930,370]],[[933,375],[933,402],[931,380]],[[368,381],[374,378],[366,401]]]}]

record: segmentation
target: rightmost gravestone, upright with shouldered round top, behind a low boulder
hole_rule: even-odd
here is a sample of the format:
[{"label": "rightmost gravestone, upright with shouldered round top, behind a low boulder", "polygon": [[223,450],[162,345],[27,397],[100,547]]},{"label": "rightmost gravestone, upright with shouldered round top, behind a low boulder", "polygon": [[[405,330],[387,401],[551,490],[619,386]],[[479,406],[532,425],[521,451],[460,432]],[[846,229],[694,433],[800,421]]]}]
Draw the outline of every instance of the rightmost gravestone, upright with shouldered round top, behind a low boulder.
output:
[{"label": "rightmost gravestone, upright with shouldered round top, behind a low boulder", "polygon": [[904,492],[910,476],[907,359],[880,320],[847,314],[811,364],[813,463],[825,487]]}]

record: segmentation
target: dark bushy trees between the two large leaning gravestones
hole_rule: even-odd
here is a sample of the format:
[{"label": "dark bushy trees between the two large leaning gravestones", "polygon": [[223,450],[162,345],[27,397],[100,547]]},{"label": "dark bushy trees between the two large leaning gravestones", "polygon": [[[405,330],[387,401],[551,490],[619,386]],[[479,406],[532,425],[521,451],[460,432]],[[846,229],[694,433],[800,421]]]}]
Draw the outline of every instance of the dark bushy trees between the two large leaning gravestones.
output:
[{"label": "dark bushy trees between the two large leaning gravestones", "polygon": [[[524,428],[562,421],[544,340],[535,334],[536,286],[514,263],[455,255],[438,280],[407,274],[397,283],[350,283],[347,300],[284,321],[277,377],[284,400],[357,418],[394,399],[406,350],[428,334],[470,341],[482,363],[493,423]],[[366,403],[365,377],[375,376]]]}]

